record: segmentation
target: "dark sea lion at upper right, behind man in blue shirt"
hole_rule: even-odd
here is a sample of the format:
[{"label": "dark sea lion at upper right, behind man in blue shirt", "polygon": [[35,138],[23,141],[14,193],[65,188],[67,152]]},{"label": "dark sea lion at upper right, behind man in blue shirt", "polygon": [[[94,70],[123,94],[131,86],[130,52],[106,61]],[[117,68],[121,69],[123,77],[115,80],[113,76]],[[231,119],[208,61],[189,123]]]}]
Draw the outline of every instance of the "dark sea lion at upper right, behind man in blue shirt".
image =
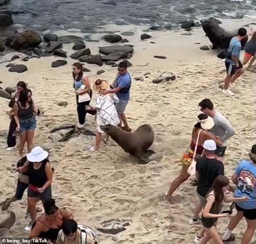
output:
[{"label": "dark sea lion at upper right, behind man in blue shirt", "polygon": [[[226,49],[229,47],[231,39],[237,35],[238,30],[227,31],[220,27],[216,21],[211,19],[201,20],[204,32],[212,42],[212,49]],[[248,36],[241,41],[242,49],[248,41]]]}]

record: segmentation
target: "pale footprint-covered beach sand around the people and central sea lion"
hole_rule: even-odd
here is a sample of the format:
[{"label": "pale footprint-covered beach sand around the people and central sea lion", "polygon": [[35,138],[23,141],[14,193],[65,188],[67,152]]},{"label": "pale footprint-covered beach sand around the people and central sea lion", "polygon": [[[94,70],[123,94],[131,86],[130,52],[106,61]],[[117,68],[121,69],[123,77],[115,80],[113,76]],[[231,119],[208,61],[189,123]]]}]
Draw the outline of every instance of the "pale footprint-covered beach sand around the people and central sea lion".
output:
[{"label": "pale footprint-covered beach sand around the people and central sea lion", "polygon": [[[133,64],[129,68],[133,83],[126,111],[128,122],[132,129],[149,123],[155,131],[152,148],[164,154],[162,161],[147,165],[138,165],[136,159],[115,142],[101,147],[99,153],[91,153],[88,146],[94,144],[94,137],[80,136],[66,143],[52,143],[49,139],[52,127],[77,121],[71,79],[74,60],[68,59],[66,66],[50,68],[51,62],[58,58],[30,59],[25,63],[28,71],[21,74],[9,73],[6,63],[0,65],[1,86],[15,86],[19,80],[26,81],[36,104],[45,111],[37,118],[34,144],[54,148],[50,162],[56,170],[52,191],[57,204],[72,211],[78,223],[91,227],[112,217],[132,220],[130,227],[117,235],[118,241],[112,240],[111,235],[99,234],[101,243],[193,243],[199,230],[198,226],[188,223],[196,201],[193,187],[186,182],[178,188],[176,195],[181,197],[181,202],[175,205],[165,203],[162,195],[180,171],[179,160],[191,140],[191,130],[199,113],[197,104],[201,99],[210,98],[216,110],[223,113],[235,128],[236,134],[229,140],[225,156],[228,177],[255,142],[255,74],[246,71],[232,88],[235,96],[225,96],[218,88],[225,77],[225,73],[219,73],[224,68],[223,61],[216,58],[213,50],[199,50],[199,46],[210,44],[201,29],[192,33],[185,36],[178,32],[152,32],[154,38],[145,42],[136,42],[136,35],[128,37],[135,46],[134,56],[129,60]],[[164,55],[167,59],[156,59],[154,55]],[[116,75],[116,69],[109,66],[86,64],[85,67],[92,70],[88,73],[90,81],[98,77],[112,81]],[[100,69],[106,72],[95,75]],[[176,80],[153,84],[152,79],[164,71],[173,72]],[[135,81],[135,77],[145,73],[150,73],[148,78]],[[69,104],[60,107],[57,102],[61,100]],[[7,104],[8,101],[0,98],[2,111],[7,110]],[[93,100],[91,104],[94,104]],[[8,118],[1,113],[0,119],[1,130],[6,130]],[[88,115],[86,123],[88,129],[95,129],[94,117]],[[10,173],[10,167],[17,162],[18,152],[6,152],[5,141],[4,136],[0,137],[1,200],[14,193],[17,182],[17,175]],[[24,218],[26,206],[26,193],[21,201],[10,206],[17,221],[6,236],[27,236],[23,230],[29,221]],[[218,229],[223,232],[228,219],[219,222]],[[237,240],[234,244],[241,242],[245,227],[246,222],[241,221],[235,229]]]}]

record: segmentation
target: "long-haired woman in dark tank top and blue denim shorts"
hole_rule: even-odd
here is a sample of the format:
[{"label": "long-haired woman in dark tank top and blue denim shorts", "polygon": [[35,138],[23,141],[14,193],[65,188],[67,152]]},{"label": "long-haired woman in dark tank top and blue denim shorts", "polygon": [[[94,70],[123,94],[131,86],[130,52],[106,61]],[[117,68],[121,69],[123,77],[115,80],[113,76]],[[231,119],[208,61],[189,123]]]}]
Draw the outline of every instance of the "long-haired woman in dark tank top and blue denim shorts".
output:
[{"label": "long-haired woman in dark tank top and blue denim shorts", "polygon": [[33,147],[33,138],[36,129],[36,117],[38,108],[32,100],[32,92],[29,89],[23,89],[19,94],[18,101],[13,106],[14,119],[17,124],[17,131],[22,134],[19,142],[19,156],[23,156],[25,142],[27,142],[27,152]]}]

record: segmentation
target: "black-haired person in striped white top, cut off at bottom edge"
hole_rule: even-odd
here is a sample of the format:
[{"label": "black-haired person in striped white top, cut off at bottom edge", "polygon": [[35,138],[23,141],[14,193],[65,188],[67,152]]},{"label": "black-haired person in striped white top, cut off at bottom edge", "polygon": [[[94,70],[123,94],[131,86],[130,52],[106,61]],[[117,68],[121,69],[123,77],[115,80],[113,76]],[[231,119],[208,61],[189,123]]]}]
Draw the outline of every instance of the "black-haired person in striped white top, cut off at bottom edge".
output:
[{"label": "black-haired person in striped white top, cut off at bottom edge", "polygon": [[59,231],[57,244],[97,244],[93,230],[85,225],[78,225],[73,219],[65,219]]}]

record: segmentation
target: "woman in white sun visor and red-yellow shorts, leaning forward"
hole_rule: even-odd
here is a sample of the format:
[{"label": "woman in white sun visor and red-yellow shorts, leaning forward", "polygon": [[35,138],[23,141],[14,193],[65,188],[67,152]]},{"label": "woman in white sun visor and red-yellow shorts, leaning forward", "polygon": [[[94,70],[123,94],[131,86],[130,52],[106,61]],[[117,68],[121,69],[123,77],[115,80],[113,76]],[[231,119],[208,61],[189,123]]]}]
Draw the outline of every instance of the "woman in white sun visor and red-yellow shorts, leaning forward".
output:
[{"label": "woman in white sun visor and red-yellow shorts, leaning forward", "polygon": [[193,131],[192,131],[192,140],[191,140],[191,144],[189,146],[189,150],[187,151],[186,154],[183,155],[183,159],[181,161],[182,169],[180,171],[180,175],[176,179],[174,179],[174,181],[172,182],[172,184],[170,186],[170,189],[165,194],[166,200],[170,203],[175,203],[175,200],[172,197],[172,194],[174,193],[174,191],[184,181],[186,181],[189,178],[189,174],[187,173],[187,170],[188,170],[189,166],[191,165],[191,162],[193,159],[193,154],[194,154],[194,150],[196,147],[197,138],[198,138],[198,145],[197,145],[197,150],[196,150],[197,155],[201,155],[203,153],[204,147],[202,146],[202,144],[206,140],[212,139],[216,142],[216,144],[221,143],[220,138],[215,137],[208,131],[209,129],[212,129],[212,127],[214,126],[214,121],[213,121],[212,117],[209,117],[205,114],[200,114],[197,116],[197,119],[198,119],[197,123],[195,124]]}]

